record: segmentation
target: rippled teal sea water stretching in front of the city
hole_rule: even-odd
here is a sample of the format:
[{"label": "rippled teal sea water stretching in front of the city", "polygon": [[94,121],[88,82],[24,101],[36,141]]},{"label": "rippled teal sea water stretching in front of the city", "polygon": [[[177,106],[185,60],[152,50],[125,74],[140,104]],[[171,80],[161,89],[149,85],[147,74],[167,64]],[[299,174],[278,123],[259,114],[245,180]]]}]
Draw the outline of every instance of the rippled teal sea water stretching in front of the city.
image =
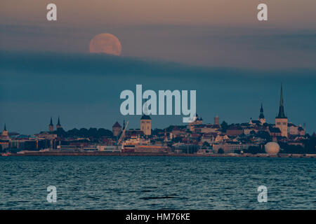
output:
[{"label": "rippled teal sea water stretching in front of the city", "polygon": [[0,157],[0,209],[316,209],[315,168],[312,158]]}]

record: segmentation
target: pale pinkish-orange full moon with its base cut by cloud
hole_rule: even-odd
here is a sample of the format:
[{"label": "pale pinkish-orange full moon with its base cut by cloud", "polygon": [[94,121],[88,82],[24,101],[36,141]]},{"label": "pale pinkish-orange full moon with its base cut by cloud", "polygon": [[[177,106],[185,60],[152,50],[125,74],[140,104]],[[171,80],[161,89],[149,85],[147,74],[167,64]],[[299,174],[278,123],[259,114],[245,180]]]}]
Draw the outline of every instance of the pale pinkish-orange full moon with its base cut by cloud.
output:
[{"label": "pale pinkish-orange full moon with its base cut by cloud", "polygon": [[121,42],[112,34],[98,34],[90,41],[91,53],[105,53],[109,55],[121,55]]}]

